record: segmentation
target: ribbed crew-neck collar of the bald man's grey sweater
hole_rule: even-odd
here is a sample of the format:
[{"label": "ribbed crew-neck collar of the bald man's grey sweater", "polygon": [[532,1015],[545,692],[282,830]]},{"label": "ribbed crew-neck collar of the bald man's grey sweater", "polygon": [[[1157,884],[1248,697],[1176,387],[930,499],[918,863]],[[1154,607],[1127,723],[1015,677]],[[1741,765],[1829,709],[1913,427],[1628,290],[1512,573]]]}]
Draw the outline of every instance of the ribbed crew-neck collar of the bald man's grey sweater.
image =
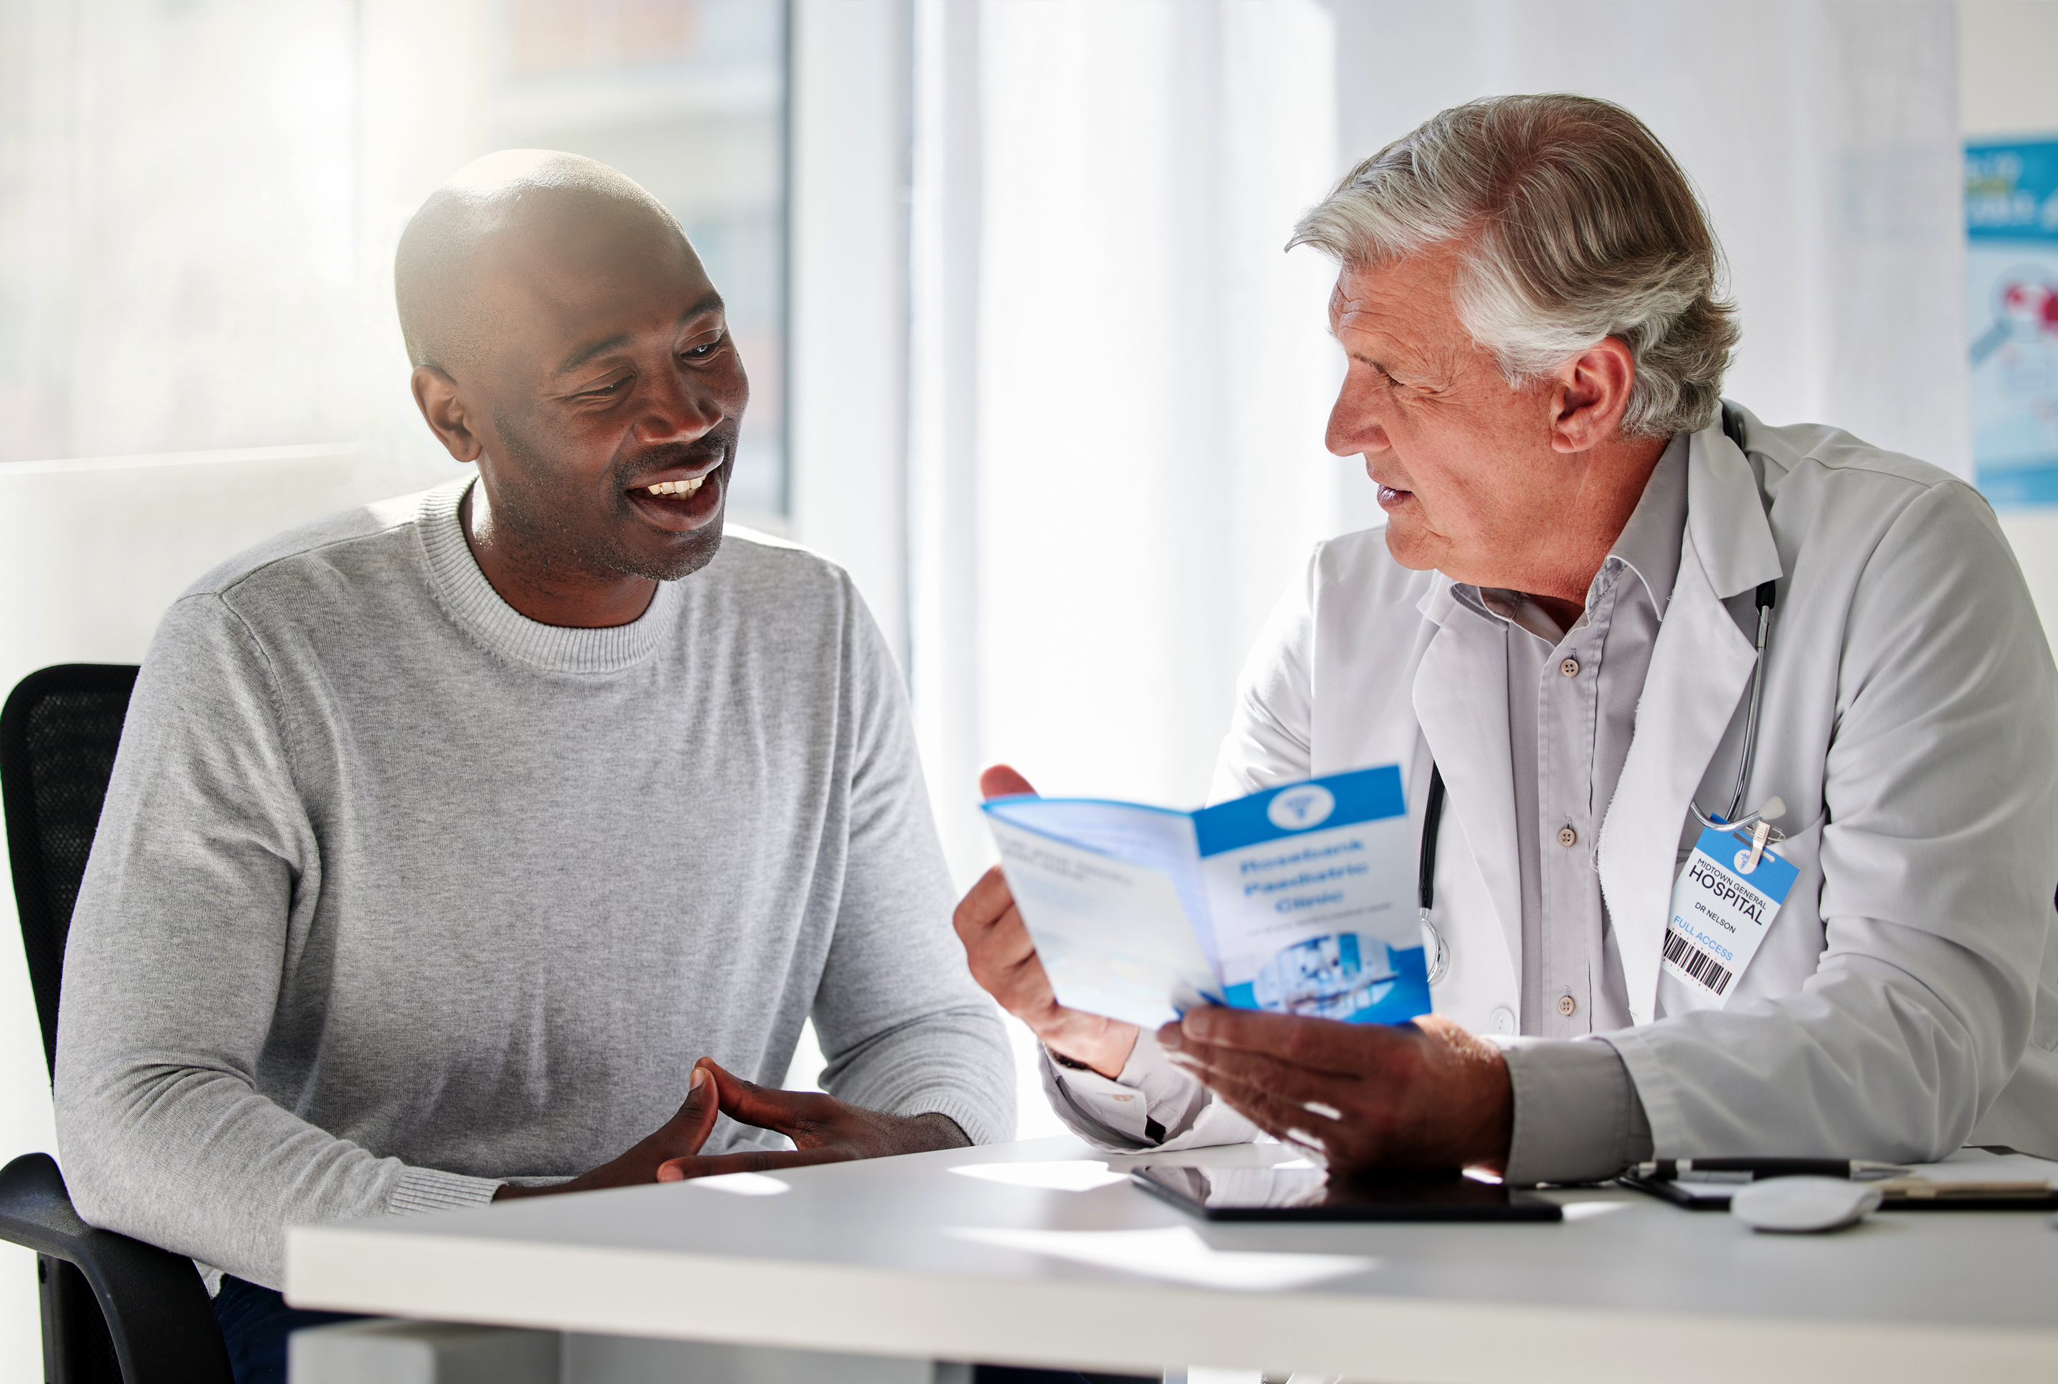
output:
[{"label": "ribbed crew-neck collar of the bald man's grey sweater", "polygon": [[436,598],[451,619],[490,650],[545,672],[619,672],[648,658],[671,629],[679,584],[659,582],[650,609],[628,625],[572,629],[533,621],[486,580],[457,522],[457,506],[473,481],[463,477],[426,491],[414,526]]}]

